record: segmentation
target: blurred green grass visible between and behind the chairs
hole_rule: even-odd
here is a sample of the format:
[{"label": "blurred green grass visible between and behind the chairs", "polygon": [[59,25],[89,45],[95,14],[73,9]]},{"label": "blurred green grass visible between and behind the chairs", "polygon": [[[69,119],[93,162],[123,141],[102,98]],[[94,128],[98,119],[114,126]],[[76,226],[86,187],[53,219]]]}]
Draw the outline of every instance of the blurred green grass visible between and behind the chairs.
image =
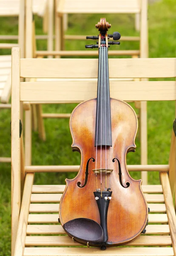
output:
[{"label": "blurred green grass visible between and behind the chairs", "polygon": [[[149,56],[150,58],[175,57],[176,54],[176,4],[175,0],[162,0],[151,4],[148,9],[149,23]],[[97,35],[95,24],[104,15],[70,15],[68,19],[68,34]],[[134,30],[133,15],[105,15],[111,23],[109,32],[119,31],[121,35],[138,35]],[[42,32],[42,20],[35,17],[37,33]],[[0,34],[17,34],[16,18],[1,18]],[[67,41],[65,49],[85,49],[86,41]],[[137,49],[138,42],[122,42],[120,46],[111,49]],[[38,49],[46,49],[45,41],[37,42]],[[7,54],[9,50],[0,50]],[[117,67],[118,68],[118,67]],[[44,112],[69,113],[75,105],[45,105]],[[148,102],[148,163],[167,164],[170,150],[170,137],[174,119],[174,102]],[[10,157],[10,111],[0,111],[0,156]],[[80,155],[71,150],[71,135],[68,120],[46,119],[46,142],[38,138],[37,132],[32,134],[32,164],[58,165],[79,164]],[[139,133],[136,138],[136,152],[129,153],[128,164],[140,163]],[[139,178],[139,173],[132,173]],[[158,184],[159,175],[148,174],[149,184]],[[65,177],[75,174],[36,174],[36,184],[65,184]],[[9,163],[0,163],[0,256],[10,255],[11,217],[10,189],[11,169]]]}]

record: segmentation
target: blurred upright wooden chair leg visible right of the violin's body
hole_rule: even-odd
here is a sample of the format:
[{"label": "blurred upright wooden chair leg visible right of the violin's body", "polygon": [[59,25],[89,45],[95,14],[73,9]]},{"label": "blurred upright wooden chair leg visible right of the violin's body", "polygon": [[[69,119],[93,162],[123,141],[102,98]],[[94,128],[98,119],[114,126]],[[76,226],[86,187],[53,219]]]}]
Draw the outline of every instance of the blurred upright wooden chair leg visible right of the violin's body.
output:
[{"label": "blurred upright wooden chair leg visible right of the violin's body", "polygon": [[[140,141],[141,141],[141,164],[147,164],[147,102],[141,102],[140,109]],[[148,172],[142,172],[142,184],[148,183]]]}]

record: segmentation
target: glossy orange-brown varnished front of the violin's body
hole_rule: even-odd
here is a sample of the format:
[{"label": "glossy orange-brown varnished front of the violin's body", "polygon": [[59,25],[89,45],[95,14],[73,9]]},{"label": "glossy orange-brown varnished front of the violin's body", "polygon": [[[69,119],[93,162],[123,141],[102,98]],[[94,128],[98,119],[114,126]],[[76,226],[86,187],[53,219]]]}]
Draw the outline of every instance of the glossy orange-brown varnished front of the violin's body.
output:
[{"label": "glossy orange-brown varnished front of the violin's body", "polygon": [[[72,148],[81,153],[81,165],[77,176],[66,179],[66,188],[60,201],[60,222],[65,224],[74,218],[90,218],[99,220],[99,210],[94,198],[96,191],[96,175],[93,169],[107,168],[113,169],[111,173],[112,199],[108,208],[108,242],[112,246],[128,243],[133,240],[144,229],[148,208],[145,197],[141,189],[141,180],[133,180],[128,173],[126,166],[126,154],[136,148],[135,137],[137,132],[137,117],[130,105],[120,100],[111,99],[111,127],[112,127],[112,147],[97,150],[96,162],[90,160],[88,170],[88,182],[83,187],[85,181],[85,169],[88,159],[96,159],[96,147],[94,147],[95,137],[95,116],[97,99],[91,99],[79,104],[71,114],[70,129],[73,138]],[[130,183],[128,188],[124,188],[119,182],[118,162],[121,164],[122,183],[124,186]],[[102,163],[101,163],[102,160]],[[107,175],[107,187],[109,187],[110,174]],[[100,174],[97,175],[98,188],[100,188]],[[105,189],[105,174],[102,174],[102,189]],[[111,246],[108,245],[107,246]]]}]

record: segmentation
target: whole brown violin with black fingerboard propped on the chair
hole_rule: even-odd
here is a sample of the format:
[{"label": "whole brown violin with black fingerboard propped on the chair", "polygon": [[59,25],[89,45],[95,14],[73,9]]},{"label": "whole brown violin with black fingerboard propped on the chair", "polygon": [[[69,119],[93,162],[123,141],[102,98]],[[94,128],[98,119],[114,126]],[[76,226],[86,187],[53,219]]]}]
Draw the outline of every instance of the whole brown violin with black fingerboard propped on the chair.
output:
[{"label": "whole brown violin with black fingerboard propped on the chair", "polygon": [[[142,180],[128,173],[126,154],[135,151],[137,116],[126,102],[110,98],[108,47],[119,42],[111,24],[101,18],[99,36],[97,99],[80,103],[72,112],[70,131],[73,151],[81,154],[74,179],[66,179],[60,201],[59,220],[74,241],[95,247],[126,244],[142,232],[148,222],[148,206],[141,189]],[[118,67],[117,67],[118,68]]]}]

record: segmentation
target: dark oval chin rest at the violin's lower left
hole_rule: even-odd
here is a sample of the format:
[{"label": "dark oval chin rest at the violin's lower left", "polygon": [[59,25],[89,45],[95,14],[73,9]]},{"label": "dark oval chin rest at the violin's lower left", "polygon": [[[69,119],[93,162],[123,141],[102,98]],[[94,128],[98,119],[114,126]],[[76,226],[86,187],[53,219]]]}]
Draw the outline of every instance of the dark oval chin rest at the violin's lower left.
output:
[{"label": "dark oval chin rest at the violin's lower left", "polygon": [[102,227],[88,218],[76,218],[63,225],[64,230],[69,236],[74,237],[79,242],[91,245],[98,245],[103,242]]}]

